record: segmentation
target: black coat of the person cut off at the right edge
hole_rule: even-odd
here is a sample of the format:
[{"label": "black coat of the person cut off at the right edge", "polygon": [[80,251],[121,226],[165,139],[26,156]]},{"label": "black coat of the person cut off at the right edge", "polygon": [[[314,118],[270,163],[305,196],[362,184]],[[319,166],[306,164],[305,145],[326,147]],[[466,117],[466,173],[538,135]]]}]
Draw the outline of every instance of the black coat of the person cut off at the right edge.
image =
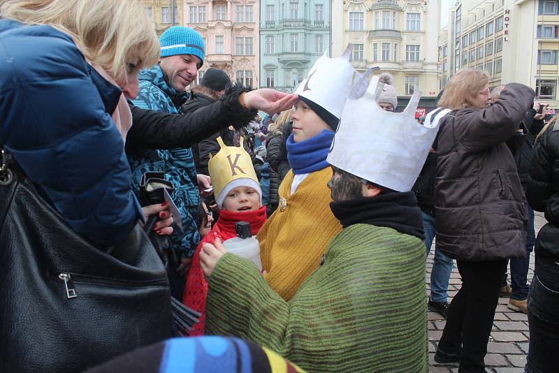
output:
[{"label": "black coat of the person cut off at the right edge", "polygon": [[536,257],[559,261],[559,124],[551,124],[534,145],[526,197],[548,224],[539,230]]}]

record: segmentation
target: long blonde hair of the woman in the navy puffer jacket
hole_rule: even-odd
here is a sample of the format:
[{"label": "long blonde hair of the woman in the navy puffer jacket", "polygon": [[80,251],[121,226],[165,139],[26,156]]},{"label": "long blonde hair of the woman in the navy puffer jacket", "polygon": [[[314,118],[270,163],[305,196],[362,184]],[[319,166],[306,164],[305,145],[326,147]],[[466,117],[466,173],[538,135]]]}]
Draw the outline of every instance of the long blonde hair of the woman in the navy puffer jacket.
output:
[{"label": "long blonde hair of the woman in the navy puffer jacket", "polygon": [[136,0],[8,0],[0,17],[70,35],[85,58],[115,80],[126,76],[128,64],[151,66],[159,59],[157,34]]}]

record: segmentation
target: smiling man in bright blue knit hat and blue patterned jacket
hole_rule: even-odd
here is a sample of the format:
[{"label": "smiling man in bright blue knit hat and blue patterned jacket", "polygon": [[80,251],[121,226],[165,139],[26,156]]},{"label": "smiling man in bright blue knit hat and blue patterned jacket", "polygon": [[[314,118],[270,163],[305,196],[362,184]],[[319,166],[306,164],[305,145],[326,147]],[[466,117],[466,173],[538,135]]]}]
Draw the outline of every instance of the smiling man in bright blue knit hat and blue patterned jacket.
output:
[{"label": "smiling man in bright blue knit hat and blue patterned jacket", "polygon": [[[184,26],[173,26],[159,38],[159,63],[138,74],[139,93],[132,103],[139,108],[178,114],[189,94],[184,91],[196,79],[204,61],[204,41],[198,32]],[[171,198],[181,214],[182,232],[175,228],[170,237],[181,258],[177,268],[168,268],[171,292],[182,298],[184,274],[200,241],[196,214],[200,197],[198,186],[207,189],[210,178],[196,175],[192,149],[139,149],[127,154],[132,170],[132,186],[139,196],[139,185],[146,172],[164,172],[173,182]],[[175,272],[177,270],[177,272]]]}]

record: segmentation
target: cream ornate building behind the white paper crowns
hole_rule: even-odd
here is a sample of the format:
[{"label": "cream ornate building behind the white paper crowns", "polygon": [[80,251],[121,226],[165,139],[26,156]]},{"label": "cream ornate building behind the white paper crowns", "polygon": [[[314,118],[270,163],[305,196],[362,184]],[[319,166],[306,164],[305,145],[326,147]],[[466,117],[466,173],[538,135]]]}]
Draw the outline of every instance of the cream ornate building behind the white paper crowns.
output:
[{"label": "cream ornate building behind the white paper crowns", "polygon": [[358,71],[379,66],[391,73],[398,106],[415,89],[423,93],[420,108],[431,108],[439,91],[437,39],[440,0],[333,0],[333,54],[354,44]]}]

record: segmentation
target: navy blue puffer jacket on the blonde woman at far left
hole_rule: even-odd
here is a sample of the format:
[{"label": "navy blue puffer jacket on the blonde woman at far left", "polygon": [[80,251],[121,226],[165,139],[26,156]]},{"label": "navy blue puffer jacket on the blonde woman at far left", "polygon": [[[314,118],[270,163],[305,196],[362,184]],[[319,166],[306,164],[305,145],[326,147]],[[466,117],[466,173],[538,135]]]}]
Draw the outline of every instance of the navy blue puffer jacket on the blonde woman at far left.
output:
[{"label": "navy blue puffer jacket on the blonde woman at far left", "polygon": [[66,34],[0,20],[0,143],[68,224],[99,246],[143,219],[110,115],[120,94]]}]

